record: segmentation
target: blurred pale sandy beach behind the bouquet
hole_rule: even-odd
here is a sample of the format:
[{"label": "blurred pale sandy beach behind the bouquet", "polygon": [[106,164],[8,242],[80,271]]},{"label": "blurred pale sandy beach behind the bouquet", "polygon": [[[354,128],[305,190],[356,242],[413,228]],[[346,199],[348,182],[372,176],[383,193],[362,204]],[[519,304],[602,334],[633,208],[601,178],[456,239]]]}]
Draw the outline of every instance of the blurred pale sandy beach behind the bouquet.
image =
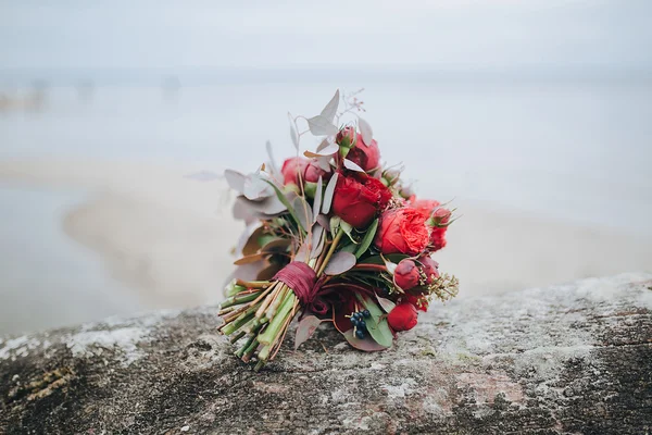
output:
[{"label": "blurred pale sandy beach behind the bouquet", "polygon": [[[0,163],[0,181],[5,187],[86,189],[89,199],[65,213],[61,228],[91,248],[146,308],[191,307],[220,299],[234,261],[229,249],[242,228],[230,216],[223,182],[185,177],[197,170],[32,160]],[[463,217],[436,259],[460,277],[460,297],[652,266],[645,238],[491,204],[456,207]]]}]

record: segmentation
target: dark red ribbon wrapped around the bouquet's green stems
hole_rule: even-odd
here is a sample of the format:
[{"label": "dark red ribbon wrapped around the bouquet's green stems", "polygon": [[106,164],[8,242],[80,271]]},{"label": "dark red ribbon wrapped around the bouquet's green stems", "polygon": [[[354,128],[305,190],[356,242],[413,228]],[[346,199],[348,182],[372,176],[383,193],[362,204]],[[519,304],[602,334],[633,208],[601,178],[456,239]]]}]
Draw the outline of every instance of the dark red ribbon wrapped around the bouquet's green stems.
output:
[{"label": "dark red ribbon wrapped around the bouquet's green stems", "polygon": [[317,314],[326,314],[328,311],[328,304],[318,298],[324,278],[325,276],[317,279],[315,271],[301,261],[292,261],[274,276],[274,279],[294,291],[301,304]]}]

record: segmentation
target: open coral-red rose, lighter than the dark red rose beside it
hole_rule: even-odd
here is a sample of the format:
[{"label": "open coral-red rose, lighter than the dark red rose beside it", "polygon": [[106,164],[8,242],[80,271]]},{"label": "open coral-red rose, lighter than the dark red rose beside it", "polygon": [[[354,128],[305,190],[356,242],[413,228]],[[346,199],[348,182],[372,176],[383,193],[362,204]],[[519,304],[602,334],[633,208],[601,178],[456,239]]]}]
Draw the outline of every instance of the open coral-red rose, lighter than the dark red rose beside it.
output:
[{"label": "open coral-red rose, lighter than the dark red rose beside it", "polygon": [[426,217],[412,208],[387,210],[380,216],[380,227],[374,241],[383,253],[416,256],[428,246]]}]

